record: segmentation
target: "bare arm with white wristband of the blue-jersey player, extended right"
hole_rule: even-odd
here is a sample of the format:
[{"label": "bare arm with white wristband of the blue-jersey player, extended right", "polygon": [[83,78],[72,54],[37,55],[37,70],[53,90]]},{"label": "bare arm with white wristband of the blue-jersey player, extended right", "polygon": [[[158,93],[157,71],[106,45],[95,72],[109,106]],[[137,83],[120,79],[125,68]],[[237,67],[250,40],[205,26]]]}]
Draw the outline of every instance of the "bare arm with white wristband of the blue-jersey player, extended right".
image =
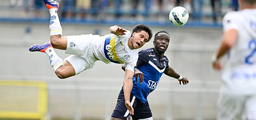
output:
[{"label": "bare arm with white wristband of the blue-jersey player, extended right", "polygon": [[167,76],[170,76],[170,77],[173,77],[175,79],[178,79],[178,81],[180,82],[180,85],[181,85],[181,82],[183,83],[183,85],[187,85],[187,83],[189,83],[189,81],[188,81],[188,79],[186,77],[180,76],[170,66],[168,68],[165,68],[165,71],[163,73],[166,74]]}]

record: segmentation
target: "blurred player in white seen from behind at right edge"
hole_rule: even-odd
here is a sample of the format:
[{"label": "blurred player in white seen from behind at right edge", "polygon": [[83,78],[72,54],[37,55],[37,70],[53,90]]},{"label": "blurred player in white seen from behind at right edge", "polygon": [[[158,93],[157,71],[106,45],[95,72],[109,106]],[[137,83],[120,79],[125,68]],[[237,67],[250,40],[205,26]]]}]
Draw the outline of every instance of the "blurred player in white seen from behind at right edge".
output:
[{"label": "blurred player in white seen from behind at right edge", "polygon": [[256,0],[239,0],[240,11],[223,18],[223,40],[212,57],[221,70],[220,58],[228,52],[217,102],[217,120],[256,120]]}]

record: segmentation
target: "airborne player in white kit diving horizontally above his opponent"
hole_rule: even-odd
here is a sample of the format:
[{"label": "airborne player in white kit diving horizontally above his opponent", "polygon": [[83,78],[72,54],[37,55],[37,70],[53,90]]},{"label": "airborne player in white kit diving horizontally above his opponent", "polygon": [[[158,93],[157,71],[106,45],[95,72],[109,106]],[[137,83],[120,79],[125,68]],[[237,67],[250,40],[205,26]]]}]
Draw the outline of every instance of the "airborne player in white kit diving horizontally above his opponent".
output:
[{"label": "airborne player in white kit diving horizontally above his opponent", "polygon": [[[138,48],[141,48],[152,38],[152,30],[143,24],[138,24],[132,33],[119,26],[109,28],[111,34],[100,35],[72,35],[62,37],[62,28],[58,18],[58,2],[42,0],[50,11],[50,42],[43,45],[34,45],[29,48],[31,52],[45,52],[55,74],[61,78],[69,78],[90,69],[97,60],[104,63],[126,64],[124,75],[124,94],[130,97],[132,77],[138,59]],[[54,48],[64,50],[71,54],[64,61]],[[131,106],[127,103],[127,106]]]}]

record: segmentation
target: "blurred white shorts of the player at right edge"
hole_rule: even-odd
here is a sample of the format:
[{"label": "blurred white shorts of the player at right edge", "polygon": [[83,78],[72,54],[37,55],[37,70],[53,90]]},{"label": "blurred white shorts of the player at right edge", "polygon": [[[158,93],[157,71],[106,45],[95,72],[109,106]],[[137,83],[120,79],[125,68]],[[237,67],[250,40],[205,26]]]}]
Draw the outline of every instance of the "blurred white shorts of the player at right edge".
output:
[{"label": "blurred white shorts of the player at right edge", "polygon": [[256,120],[256,95],[220,93],[217,107],[217,120]]}]

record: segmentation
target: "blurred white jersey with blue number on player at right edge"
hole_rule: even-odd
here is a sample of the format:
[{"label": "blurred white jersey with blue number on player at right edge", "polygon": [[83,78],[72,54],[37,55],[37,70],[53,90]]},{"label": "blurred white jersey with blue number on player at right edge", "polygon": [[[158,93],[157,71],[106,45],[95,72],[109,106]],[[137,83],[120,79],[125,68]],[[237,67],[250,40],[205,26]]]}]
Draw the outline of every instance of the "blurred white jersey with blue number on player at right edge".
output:
[{"label": "blurred white jersey with blue number on player at right edge", "polygon": [[228,52],[223,69],[224,91],[256,94],[256,9],[227,13],[223,29],[238,31],[237,41]]}]

